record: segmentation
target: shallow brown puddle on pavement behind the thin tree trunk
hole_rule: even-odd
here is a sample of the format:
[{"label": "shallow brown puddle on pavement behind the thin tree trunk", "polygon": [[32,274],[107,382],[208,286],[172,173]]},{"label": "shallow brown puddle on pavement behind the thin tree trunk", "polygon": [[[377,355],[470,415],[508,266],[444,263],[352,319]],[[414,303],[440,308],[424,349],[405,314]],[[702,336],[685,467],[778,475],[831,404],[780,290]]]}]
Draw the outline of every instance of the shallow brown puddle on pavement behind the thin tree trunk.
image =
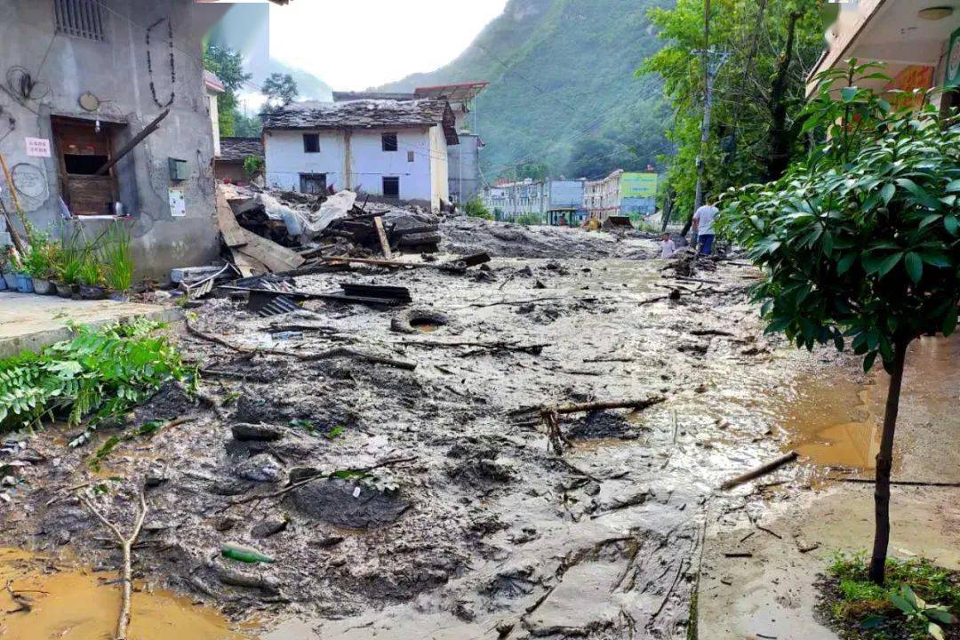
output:
[{"label": "shallow brown puddle on pavement behind the thin tree trunk", "polygon": [[[870,382],[802,378],[782,410],[781,428],[787,448],[812,462],[832,467],[868,470],[876,467],[883,409],[889,377],[880,368]],[[898,420],[898,452],[909,451],[908,423],[933,421],[946,425],[960,393],[960,337],[924,338],[907,354]],[[950,409],[953,407],[954,409]],[[913,425],[911,425],[913,426]]]}]

